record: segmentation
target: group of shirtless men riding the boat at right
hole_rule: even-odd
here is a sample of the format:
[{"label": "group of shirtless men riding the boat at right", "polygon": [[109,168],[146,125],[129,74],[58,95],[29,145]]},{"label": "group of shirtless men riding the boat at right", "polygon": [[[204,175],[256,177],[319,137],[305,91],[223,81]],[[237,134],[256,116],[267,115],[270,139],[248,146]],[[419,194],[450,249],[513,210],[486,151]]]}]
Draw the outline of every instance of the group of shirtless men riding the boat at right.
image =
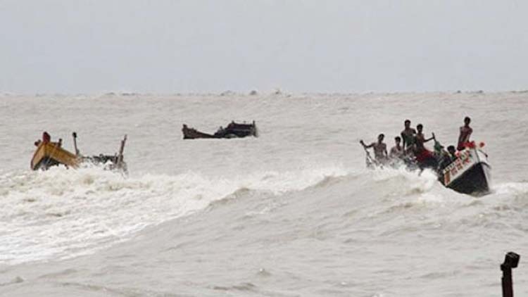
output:
[{"label": "group of shirtless men riding the boat at right", "polygon": [[[435,170],[443,170],[453,160],[458,158],[457,151],[463,151],[467,146],[471,145],[470,137],[473,129],[470,127],[470,122],[471,119],[465,117],[464,125],[460,127],[457,147],[448,146],[447,151],[444,150],[444,146],[439,141],[436,141],[434,133],[432,133],[432,137],[425,137],[423,125],[418,124],[416,129],[413,129],[410,127],[410,120],[405,120],[404,129],[400,136],[394,138],[395,145],[389,152],[387,152],[386,144],[383,142],[384,134],[378,135],[377,142],[365,144],[363,140],[360,140],[360,144],[365,150],[367,148],[374,150],[375,160],[369,160],[371,165],[398,165],[404,163],[411,167],[417,165],[420,169],[433,168]],[[426,142],[431,140],[434,140],[434,151],[429,151],[424,146]],[[367,156],[370,158],[370,155]]]}]

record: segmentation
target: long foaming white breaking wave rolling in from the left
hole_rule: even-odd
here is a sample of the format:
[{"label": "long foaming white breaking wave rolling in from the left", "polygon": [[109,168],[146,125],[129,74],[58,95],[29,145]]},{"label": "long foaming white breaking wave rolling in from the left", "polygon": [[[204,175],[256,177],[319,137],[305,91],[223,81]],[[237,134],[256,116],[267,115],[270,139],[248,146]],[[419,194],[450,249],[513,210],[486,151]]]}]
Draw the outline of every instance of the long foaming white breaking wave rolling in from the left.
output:
[{"label": "long foaming white breaking wave rolling in from the left", "polygon": [[90,253],[224,199],[251,191],[279,195],[339,175],[346,175],[339,166],[229,178],[195,172],[126,178],[99,168],[7,173],[0,176],[0,263]]}]

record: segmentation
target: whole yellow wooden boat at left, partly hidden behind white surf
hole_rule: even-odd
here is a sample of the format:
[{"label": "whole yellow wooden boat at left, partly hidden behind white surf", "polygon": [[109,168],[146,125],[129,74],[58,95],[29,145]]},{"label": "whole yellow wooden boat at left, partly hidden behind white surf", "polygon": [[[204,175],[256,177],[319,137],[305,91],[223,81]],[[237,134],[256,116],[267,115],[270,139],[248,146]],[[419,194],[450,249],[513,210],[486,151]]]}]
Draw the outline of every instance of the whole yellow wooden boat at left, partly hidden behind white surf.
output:
[{"label": "whole yellow wooden boat at left, partly hidden behind white surf", "polygon": [[120,170],[127,172],[127,163],[123,157],[125,142],[127,136],[122,139],[119,153],[114,155],[99,154],[97,156],[83,156],[77,149],[77,133],[73,132],[73,144],[75,153],[72,153],[62,147],[62,139],[54,142],[47,132],[42,134],[42,139],[35,141],[37,149],[31,159],[30,167],[32,170],[48,170],[52,166],[63,165],[66,168],[78,168],[82,164],[91,163],[94,165],[103,165],[108,170]]}]

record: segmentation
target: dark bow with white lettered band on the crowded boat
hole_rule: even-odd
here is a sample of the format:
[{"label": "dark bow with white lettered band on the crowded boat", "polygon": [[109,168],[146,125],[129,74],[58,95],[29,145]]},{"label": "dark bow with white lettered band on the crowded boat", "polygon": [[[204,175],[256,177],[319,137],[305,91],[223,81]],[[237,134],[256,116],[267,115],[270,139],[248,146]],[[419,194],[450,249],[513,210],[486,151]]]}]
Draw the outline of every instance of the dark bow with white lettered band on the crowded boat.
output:
[{"label": "dark bow with white lettered band on the crowded boat", "polygon": [[444,186],[463,194],[484,195],[490,191],[490,170],[486,154],[477,148],[466,148],[441,172]]}]

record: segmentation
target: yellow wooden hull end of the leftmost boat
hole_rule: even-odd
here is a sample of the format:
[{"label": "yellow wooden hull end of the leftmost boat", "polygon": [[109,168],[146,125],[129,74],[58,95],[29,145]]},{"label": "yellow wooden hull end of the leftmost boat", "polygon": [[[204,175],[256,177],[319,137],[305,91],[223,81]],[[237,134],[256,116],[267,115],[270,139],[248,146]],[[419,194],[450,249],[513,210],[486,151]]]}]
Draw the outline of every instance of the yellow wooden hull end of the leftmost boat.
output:
[{"label": "yellow wooden hull end of the leftmost boat", "polygon": [[31,159],[31,169],[48,169],[54,165],[65,165],[67,167],[77,167],[80,163],[80,158],[75,154],[61,148],[55,142],[40,143],[37,151],[34,152]]}]

